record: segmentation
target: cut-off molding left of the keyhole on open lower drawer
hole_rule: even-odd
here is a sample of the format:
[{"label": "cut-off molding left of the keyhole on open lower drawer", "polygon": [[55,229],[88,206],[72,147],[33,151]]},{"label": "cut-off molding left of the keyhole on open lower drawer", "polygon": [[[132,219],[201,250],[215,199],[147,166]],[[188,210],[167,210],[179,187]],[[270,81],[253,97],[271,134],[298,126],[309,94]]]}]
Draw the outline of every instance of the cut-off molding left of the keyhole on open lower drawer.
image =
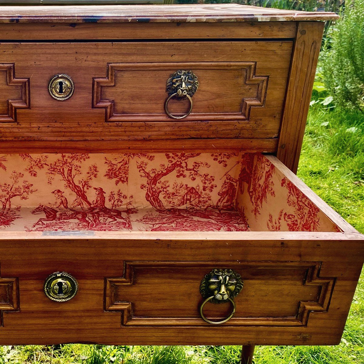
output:
[{"label": "cut-off molding left of the keyhole on open lower drawer", "polygon": [[18,278],[0,278],[0,327],[4,326],[4,312],[19,312]]}]

